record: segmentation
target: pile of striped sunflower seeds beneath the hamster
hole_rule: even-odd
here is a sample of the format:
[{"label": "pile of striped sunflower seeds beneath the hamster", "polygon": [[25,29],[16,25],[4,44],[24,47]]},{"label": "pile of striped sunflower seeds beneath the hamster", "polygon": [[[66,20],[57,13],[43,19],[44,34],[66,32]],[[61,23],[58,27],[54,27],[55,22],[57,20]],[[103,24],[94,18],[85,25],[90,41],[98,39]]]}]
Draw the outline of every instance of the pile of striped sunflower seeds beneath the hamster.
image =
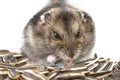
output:
[{"label": "pile of striped sunflower seeds beneath the hamster", "polygon": [[113,79],[120,74],[120,62],[98,58],[97,55],[62,68],[31,67],[27,62],[28,58],[20,53],[0,50],[0,80],[120,80],[120,75],[119,79]]}]

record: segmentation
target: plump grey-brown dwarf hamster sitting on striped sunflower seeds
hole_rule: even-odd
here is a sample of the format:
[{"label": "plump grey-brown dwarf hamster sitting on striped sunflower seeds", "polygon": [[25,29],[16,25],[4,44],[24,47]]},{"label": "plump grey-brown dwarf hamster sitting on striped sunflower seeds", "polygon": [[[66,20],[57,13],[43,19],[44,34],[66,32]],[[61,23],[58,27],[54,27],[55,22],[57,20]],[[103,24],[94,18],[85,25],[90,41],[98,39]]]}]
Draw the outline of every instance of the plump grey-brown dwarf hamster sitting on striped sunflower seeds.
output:
[{"label": "plump grey-brown dwarf hamster sitting on striped sunflower seeds", "polygon": [[23,31],[22,53],[31,64],[69,64],[89,54],[95,43],[91,16],[68,5],[51,0],[28,22]]}]

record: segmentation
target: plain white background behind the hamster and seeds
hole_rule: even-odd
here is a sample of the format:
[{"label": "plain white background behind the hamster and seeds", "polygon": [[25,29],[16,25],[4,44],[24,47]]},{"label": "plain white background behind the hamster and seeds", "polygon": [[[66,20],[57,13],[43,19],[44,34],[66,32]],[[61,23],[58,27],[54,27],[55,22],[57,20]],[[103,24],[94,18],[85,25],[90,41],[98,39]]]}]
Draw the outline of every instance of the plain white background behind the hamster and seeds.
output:
[{"label": "plain white background behind the hamster and seeds", "polygon": [[[29,19],[49,0],[0,1],[0,49],[21,47],[21,34]],[[68,0],[68,3],[88,12],[96,26],[96,45],[92,53],[120,60],[119,0]]]}]

